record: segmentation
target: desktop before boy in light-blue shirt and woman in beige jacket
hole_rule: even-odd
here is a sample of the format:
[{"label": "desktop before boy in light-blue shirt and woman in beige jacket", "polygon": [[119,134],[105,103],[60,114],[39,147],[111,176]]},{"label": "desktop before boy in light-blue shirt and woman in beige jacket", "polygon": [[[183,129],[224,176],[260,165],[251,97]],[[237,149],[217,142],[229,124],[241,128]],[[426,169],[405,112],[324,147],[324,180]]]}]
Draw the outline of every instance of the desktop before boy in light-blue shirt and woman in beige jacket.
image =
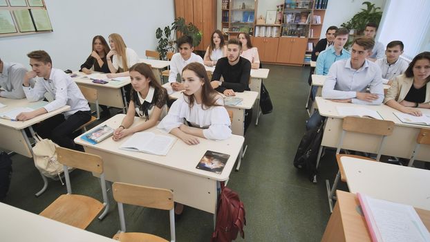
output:
[{"label": "desktop before boy in light-blue shirt and woman in beige jacket", "polygon": [[[356,107],[364,107],[366,109],[372,109],[377,111],[384,120],[393,121],[395,125],[403,126],[403,127],[413,127],[413,128],[427,128],[429,126],[418,125],[418,124],[406,124],[397,118],[393,112],[400,112],[396,109],[391,108],[390,106],[381,104],[381,105],[360,105],[360,104],[351,104],[351,103],[340,103],[340,102],[332,102],[330,100],[325,100],[322,97],[315,97],[315,101],[317,102],[319,114],[324,117],[330,118],[342,118],[342,116],[337,113],[336,106],[356,106]],[[420,109],[422,113],[430,115],[430,109]]]}]

